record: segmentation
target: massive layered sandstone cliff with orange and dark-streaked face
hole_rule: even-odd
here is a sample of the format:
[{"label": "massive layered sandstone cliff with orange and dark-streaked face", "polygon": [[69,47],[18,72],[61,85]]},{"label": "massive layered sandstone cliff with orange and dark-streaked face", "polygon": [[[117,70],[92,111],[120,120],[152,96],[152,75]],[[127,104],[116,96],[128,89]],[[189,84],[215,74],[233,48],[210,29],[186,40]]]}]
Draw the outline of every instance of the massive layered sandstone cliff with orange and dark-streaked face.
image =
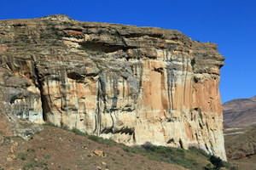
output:
[{"label": "massive layered sandstone cliff with orange and dark-streaked face", "polygon": [[223,61],[216,44],[179,31],[62,14],[2,20],[1,116],[125,144],[196,146],[225,160]]}]

